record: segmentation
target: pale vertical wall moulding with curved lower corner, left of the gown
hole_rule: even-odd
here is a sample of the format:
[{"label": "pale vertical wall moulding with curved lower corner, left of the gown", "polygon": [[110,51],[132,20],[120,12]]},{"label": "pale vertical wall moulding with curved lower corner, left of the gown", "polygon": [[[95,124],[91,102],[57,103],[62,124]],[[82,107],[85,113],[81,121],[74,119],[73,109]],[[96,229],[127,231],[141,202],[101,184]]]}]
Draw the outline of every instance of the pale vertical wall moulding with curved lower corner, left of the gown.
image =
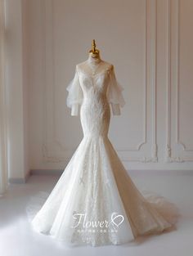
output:
[{"label": "pale vertical wall moulding with curved lower corner, left of the gown", "polygon": [[[56,116],[55,116],[55,72],[54,72],[54,37],[53,37],[53,1],[52,0],[43,0],[42,1],[42,12],[43,12],[43,34],[44,39],[44,57],[43,57],[43,66],[44,66],[44,93],[43,93],[43,112],[44,112],[44,120],[43,124],[43,159],[46,162],[50,163],[60,163],[64,162],[65,157],[58,157],[57,155],[53,155],[53,152],[50,152],[48,144],[52,144],[52,146],[60,146],[61,150],[65,150],[65,148],[61,145],[59,141],[56,140]],[[49,24],[49,26],[47,26]],[[49,88],[49,89],[47,89]],[[48,92],[51,92],[52,97],[49,97]],[[49,101],[48,101],[49,99]],[[47,103],[49,102],[49,104]],[[47,120],[52,119],[52,127],[47,129]],[[48,142],[48,138],[50,143]]]}]

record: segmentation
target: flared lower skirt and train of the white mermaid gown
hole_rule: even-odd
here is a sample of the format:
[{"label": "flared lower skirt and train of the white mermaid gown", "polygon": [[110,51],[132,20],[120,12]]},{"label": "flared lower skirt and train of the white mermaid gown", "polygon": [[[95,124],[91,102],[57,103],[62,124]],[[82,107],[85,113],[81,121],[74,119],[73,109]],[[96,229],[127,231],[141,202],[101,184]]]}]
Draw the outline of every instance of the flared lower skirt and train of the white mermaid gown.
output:
[{"label": "flared lower skirt and train of the white mermaid gown", "polygon": [[[101,137],[96,144],[92,138],[84,137],[47,200],[44,192],[39,207],[46,202],[33,219],[38,211],[35,209],[32,224],[35,230],[67,245],[96,246],[123,244],[139,235],[164,231],[177,222],[175,204],[154,192],[144,191],[143,195],[123,168],[108,138]],[[29,206],[32,209],[33,205],[38,206],[40,198],[38,195],[35,204],[31,202]],[[83,230],[83,217],[81,224],[74,228],[74,213],[84,214],[90,222],[110,221],[112,213],[118,213],[123,216],[123,222],[113,230],[112,227]]]}]

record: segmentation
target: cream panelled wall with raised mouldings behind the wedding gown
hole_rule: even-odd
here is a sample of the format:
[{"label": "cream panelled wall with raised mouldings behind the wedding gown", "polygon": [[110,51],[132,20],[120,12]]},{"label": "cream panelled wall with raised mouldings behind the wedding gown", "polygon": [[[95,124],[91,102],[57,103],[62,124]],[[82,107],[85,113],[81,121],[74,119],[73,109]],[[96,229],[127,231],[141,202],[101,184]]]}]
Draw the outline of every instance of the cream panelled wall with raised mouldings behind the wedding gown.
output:
[{"label": "cream panelled wall with raised mouldings behind the wedding gown", "polygon": [[126,105],[110,123],[123,164],[192,169],[193,1],[27,3],[30,168],[65,168],[79,145],[83,132],[65,88],[95,38],[124,87]]}]

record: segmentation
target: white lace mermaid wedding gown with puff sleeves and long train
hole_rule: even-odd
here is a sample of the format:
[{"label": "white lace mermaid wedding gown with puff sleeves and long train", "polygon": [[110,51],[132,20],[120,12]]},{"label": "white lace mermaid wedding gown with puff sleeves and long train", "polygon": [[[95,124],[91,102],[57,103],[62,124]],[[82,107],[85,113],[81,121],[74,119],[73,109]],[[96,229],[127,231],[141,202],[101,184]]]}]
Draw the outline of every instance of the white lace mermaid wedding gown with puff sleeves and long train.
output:
[{"label": "white lace mermaid wedding gown with puff sleeves and long train", "polygon": [[87,61],[76,65],[67,91],[71,115],[80,113],[83,140],[32,219],[34,230],[66,245],[96,246],[173,227],[177,206],[153,192],[142,195],[108,137],[110,106],[120,115],[125,104],[114,65],[101,61],[95,74]]}]

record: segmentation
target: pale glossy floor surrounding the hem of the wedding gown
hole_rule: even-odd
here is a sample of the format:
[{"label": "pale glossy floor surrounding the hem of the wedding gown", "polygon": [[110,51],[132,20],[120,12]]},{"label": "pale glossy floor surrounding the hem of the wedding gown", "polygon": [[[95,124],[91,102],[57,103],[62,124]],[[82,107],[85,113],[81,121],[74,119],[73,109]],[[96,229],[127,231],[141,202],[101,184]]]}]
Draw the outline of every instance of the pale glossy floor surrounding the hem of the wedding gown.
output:
[{"label": "pale glossy floor surrounding the hem of the wedding gown", "polygon": [[52,191],[59,178],[52,175],[33,175],[25,184],[11,184],[7,195],[0,198],[0,255],[192,256],[193,174],[135,175],[132,173],[131,177],[140,190],[155,191],[177,204],[182,214],[177,223],[177,230],[158,236],[141,237],[135,243],[128,245],[65,248],[61,242],[50,236],[38,234],[30,227],[25,213],[25,206],[30,196],[38,191]]}]

